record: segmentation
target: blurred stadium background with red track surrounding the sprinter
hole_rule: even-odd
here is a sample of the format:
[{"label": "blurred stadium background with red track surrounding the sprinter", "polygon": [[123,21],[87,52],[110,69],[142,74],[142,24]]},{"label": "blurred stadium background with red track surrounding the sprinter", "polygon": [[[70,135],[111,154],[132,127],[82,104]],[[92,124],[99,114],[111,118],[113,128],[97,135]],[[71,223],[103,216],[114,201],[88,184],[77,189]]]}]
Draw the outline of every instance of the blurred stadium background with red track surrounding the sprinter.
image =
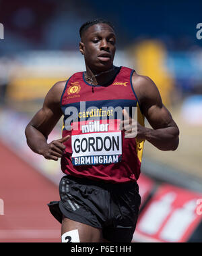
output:
[{"label": "blurred stadium background with red track surrounding the sprinter", "polygon": [[[32,153],[24,128],[55,82],[85,70],[78,31],[93,18],[114,24],[114,64],[153,79],[180,128],[176,151],[145,143],[133,242],[202,241],[201,9],[195,0],[0,1],[0,242],[60,241],[46,206],[59,199],[60,163]],[[48,140],[60,136],[61,122]]]}]

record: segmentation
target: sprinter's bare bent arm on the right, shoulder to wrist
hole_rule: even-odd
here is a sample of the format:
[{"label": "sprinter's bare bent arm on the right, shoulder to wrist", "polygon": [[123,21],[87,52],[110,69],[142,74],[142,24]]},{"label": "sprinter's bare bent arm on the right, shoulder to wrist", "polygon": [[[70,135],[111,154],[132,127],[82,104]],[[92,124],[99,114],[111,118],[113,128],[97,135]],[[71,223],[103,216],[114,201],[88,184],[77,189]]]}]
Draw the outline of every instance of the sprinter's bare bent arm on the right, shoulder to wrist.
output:
[{"label": "sprinter's bare bent arm on the right, shoulder to wrist", "polygon": [[[133,75],[133,88],[139,99],[141,111],[151,128],[138,124],[137,138],[145,139],[160,150],[176,150],[179,130],[168,109],[163,105],[158,88],[146,77]],[[129,132],[125,132],[130,137]]]}]

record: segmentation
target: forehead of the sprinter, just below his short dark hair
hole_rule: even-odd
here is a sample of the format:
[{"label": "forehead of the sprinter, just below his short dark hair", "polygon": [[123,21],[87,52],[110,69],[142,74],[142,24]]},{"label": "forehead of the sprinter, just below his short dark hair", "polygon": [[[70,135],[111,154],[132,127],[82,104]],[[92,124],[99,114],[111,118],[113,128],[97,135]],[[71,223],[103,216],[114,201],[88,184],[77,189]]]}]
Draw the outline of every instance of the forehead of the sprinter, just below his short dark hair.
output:
[{"label": "forehead of the sprinter, just below his short dark hair", "polygon": [[92,36],[92,34],[96,33],[106,33],[106,34],[113,34],[115,36],[115,32],[113,28],[111,28],[108,24],[100,23],[94,24],[87,28],[87,30],[83,33],[83,36]]}]

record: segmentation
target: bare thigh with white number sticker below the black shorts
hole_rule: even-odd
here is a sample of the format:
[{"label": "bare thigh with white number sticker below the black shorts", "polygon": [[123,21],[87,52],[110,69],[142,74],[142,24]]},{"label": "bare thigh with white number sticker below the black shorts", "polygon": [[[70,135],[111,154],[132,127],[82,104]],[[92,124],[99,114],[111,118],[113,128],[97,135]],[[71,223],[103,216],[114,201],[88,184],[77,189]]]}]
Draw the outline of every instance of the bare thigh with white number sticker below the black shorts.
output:
[{"label": "bare thigh with white number sticker below the black shorts", "polygon": [[[67,217],[63,217],[61,235],[73,230],[75,230],[75,234],[78,234],[79,242],[102,242],[101,229],[94,228],[81,222],[75,222],[74,220],[70,220]],[[68,236],[67,242],[68,241],[71,242],[71,236]]]}]

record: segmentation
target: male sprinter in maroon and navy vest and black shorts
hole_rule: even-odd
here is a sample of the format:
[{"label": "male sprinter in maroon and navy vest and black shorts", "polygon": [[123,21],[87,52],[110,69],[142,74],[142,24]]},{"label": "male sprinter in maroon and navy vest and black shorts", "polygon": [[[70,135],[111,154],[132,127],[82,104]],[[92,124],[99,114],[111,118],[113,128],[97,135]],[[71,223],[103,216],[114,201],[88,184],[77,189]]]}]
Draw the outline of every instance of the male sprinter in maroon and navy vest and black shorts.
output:
[{"label": "male sprinter in maroon and navy vest and black shorts", "polygon": [[[61,201],[48,206],[62,224],[62,242],[131,242],[141,202],[136,181],[143,142],[175,150],[179,131],[154,82],[113,65],[116,35],[110,22],[86,22],[79,32],[86,72],[50,89],[26,137],[32,151],[61,157]],[[131,118],[132,107],[138,122]],[[48,144],[62,115],[63,136]],[[144,127],[143,116],[152,129]]]}]

